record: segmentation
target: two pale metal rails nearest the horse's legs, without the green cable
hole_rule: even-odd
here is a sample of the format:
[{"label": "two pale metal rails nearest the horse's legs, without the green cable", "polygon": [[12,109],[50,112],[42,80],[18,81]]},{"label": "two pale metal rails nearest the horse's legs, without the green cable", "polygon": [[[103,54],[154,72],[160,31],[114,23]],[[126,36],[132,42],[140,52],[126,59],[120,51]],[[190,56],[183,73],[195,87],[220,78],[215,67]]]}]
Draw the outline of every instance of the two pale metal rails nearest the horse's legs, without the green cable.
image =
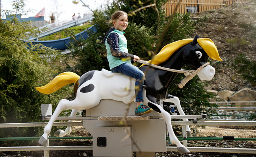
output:
[{"label": "two pale metal rails nearest the horse's legs, without the green cable", "polygon": [[[93,117],[83,117],[84,119],[91,119]],[[95,119],[95,118],[93,118]],[[82,118],[80,119],[82,120]],[[46,126],[47,122],[34,123],[4,123],[0,124],[0,128],[10,127],[36,127]],[[53,126],[82,126],[82,122],[54,122]],[[181,125],[186,128],[186,125],[198,126],[256,126],[256,122],[246,121],[172,121],[172,125]],[[186,129],[185,129],[186,130]],[[183,140],[186,141],[186,140]],[[255,153],[256,149],[251,148],[209,148],[209,147],[187,147],[191,152],[223,152],[223,153]],[[3,151],[44,151],[44,156],[49,157],[49,151],[54,150],[93,150],[93,146],[14,146],[14,147],[0,147],[0,152]],[[167,146],[167,151],[178,151],[177,147]]]}]

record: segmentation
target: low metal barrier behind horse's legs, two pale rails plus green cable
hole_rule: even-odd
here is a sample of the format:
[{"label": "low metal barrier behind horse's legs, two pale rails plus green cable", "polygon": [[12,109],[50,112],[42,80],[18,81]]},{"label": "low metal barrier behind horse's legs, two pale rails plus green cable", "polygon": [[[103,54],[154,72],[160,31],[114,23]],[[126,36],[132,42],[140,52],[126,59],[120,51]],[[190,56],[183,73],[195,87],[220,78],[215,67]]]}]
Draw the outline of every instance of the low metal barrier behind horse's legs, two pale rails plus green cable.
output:
[{"label": "low metal barrier behind horse's legs, two pale rails plus green cable", "polygon": [[[61,117],[59,117],[60,119]],[[75,117],[67,117],[66,119],[74,119]],[[86,118],[86,117],[84,117]],[[76,117],[76,119],[82,119],[82,117]],[[9,123],[0,124],[0,128],[8,127],[39,127],[45,126],[47,122],[38,123]],[[186,125],[198,125],[198,126],[256,126],[256,122],[237,122],[237,121],[172,121],[173,125],[181,125],[183,128]],[[82,126],[82,122],[55,122],[54,126]],[[184,132],[184,131],[183,131]],[[185,129],[186,132],[186,129]],[[52,139],[91,139],[92,137],[49,137]],[[8,140],[38,140],[39,137],[13,137],[13,138],[1,138],[1,141]],[[168,137],[167,137],[168,139]],[[183,144],[187,146],[187,140],[231,140],[230,138],[224,139],[223,137],[186,137],[184,134],[182,137],[178,137],[183,141]],[[234,138],[239,141],[256,141],[255,138]],[[206,148],[206,147],[187,147],[191,152],[222,152],[222,153],[255,153],[256,149],[250,148]],[[0,147],[0,152],[5,151],[45,151],[45,157],[49,157],[49,151],[56,150],[93,150],[93,146],[16,146],[16,147]],[[167,146],[167,151],[178,151],[177,147]]]}]

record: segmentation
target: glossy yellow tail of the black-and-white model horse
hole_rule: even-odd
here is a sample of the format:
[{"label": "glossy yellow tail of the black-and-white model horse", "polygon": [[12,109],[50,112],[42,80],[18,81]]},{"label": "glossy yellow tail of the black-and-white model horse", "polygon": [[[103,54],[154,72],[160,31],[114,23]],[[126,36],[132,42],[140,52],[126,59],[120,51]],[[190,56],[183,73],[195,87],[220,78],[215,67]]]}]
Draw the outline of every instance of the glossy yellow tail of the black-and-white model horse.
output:
[{"label": "glossy yellow tail of the black-and-white model horse", "polygon": [[58,91],[60,88],[66,86],[67,84],[76,83],[79,78],[80,76],[78,76],[76,73],[65,72],[54,77],[54,79],[45,86],[35,87],[35,89],[37,89],[37,91],[40,93],[50,94]]}]

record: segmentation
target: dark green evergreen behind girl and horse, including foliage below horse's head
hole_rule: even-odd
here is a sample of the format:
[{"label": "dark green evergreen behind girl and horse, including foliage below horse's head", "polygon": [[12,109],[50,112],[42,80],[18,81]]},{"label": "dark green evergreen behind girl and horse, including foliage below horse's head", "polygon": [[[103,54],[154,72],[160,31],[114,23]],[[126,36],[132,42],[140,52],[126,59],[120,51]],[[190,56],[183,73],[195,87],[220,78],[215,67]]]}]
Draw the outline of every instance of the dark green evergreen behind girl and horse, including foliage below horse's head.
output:
[{"label": "dark green evergreen behind girl and horse, including foliage below horse's head", "polygon": [[[122,0],[113,2],[104,11],[93,11],[94,19],[91,24],[96,27],[96,32],[91,32],[87,40],[74,41],[70,46],[71,56],[78,60],[74,71],[81,75],[101,68],[109,70],[103,39],[112,27],[108,22],[117,10],[128,13],[128,27],[124,34],[128,41],[128,51],[142,60],[150,60],[163,46],[191,36],[195,27],[202,26],[204,21],[208,20],[207,16],[191,20],[189,13],[175,13],[167,17],[162,9],[166,2],[168,0]],[[166,27],[167,31],[164,31]],[[135,62],[134,65],[140,64]],[[204,91],[206,83],[195,77],[184,89],[179,89],[174,84],[178,84],[177,81],[182,80],[182,77],[184,76],[178,75],[169,88],[169,93],[180,98],[186,114],[210,113],[204,110],[204,107],[213,106],[208,102],[213,95]]]}]

